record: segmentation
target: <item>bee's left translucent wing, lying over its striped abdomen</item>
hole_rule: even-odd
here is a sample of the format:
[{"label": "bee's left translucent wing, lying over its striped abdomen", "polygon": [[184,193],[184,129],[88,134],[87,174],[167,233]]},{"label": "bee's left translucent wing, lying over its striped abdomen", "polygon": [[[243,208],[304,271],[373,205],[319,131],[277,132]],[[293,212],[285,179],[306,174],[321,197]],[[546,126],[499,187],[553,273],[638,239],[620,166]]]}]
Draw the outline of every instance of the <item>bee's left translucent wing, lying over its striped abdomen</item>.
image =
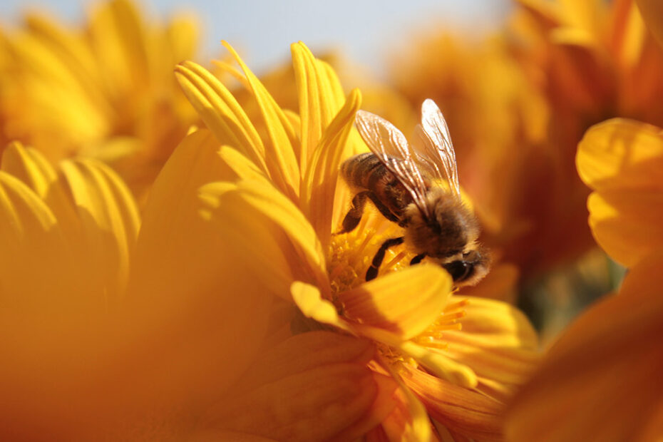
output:
[{"label": "bee's left translucent wing, lying over its striped abdomen", "polygon": [[371,152],[404,185],[418,209],[428,217],[426,183],[417,168],[405,135],[389,121],[366,111],[357,111],[356,126]]}]

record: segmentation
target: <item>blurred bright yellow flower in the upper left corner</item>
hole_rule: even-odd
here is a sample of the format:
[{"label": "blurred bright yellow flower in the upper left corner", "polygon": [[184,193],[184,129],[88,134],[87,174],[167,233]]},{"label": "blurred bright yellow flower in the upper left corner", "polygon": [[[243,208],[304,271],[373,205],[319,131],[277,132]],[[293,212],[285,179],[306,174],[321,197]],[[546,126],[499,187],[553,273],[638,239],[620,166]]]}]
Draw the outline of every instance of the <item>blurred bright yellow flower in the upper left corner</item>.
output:
[{"label": "blurred bright yellow flower in the upper left corner", "polygon": [[25,20],[0,33],[2,148],[21,140],[52,161],[98,158],[145,190],[195,122],[172,71],[196,55],[195,21],[153,24],[131,0],[96,4],[81,29]]}]

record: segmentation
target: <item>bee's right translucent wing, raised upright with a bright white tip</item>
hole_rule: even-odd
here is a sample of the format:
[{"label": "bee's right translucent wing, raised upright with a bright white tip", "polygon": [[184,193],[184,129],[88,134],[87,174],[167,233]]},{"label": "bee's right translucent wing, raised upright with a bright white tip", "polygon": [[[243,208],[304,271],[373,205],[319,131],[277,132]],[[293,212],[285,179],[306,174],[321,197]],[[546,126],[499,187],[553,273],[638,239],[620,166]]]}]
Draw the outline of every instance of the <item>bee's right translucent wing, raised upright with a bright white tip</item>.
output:
[{"label": "bee's right translucent wing, raised upright with a bright white tip", "polygon": [[449,128],[440,108],[430,98],[421,105],[421,125],[417,125],[416,131],[423,141],[415,152],[419,167],[436,178],[446,180],[454,195],[460,198],[456,153]]}]

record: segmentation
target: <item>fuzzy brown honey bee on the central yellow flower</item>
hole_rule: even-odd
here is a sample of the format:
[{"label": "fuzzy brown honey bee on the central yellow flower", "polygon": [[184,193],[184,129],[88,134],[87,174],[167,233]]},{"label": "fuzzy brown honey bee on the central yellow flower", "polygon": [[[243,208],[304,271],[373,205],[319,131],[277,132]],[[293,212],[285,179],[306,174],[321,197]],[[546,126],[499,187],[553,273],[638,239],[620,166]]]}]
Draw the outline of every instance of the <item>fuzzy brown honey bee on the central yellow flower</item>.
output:
[{"label": "fuzzy brown honey bee on the central yellow flower", "polygon": [[359,224],[366,200],[405,230],[403,236],[383,242],[366,281],[377,277],[389,247],[405,243],[416,252],[410,264],[428,257],[451,274],[456,287],[476,284],[488,273],[490,255],[477,242],[478,221],[461,198],[456,153],[436,103],[428,99],[421,105],[417,145],[409,145],[400,130],[373,113],[358,111],[356,126],[371,153],[341,165],[341,175],[355,195],[339,233]]}]

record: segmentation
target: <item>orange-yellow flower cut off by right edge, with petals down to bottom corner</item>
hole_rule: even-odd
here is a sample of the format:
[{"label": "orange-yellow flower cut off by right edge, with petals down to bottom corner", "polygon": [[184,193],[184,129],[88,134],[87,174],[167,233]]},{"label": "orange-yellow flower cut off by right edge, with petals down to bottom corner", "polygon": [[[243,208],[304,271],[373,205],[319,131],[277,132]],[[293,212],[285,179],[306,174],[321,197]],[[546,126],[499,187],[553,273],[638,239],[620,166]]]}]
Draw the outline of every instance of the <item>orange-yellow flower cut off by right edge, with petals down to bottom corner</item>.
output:
[{"label": "orange-yellow flower cut off by right edge, with petals down to bottom corner", "polygon": [[[620,293],[582,314],[515,397],[513,441],[658,441],[663,437],[663,135],[613,119],[587,130],[578,172],[597,242],[629,267]],[[545,431],[542,429],[545,428]]]}]

